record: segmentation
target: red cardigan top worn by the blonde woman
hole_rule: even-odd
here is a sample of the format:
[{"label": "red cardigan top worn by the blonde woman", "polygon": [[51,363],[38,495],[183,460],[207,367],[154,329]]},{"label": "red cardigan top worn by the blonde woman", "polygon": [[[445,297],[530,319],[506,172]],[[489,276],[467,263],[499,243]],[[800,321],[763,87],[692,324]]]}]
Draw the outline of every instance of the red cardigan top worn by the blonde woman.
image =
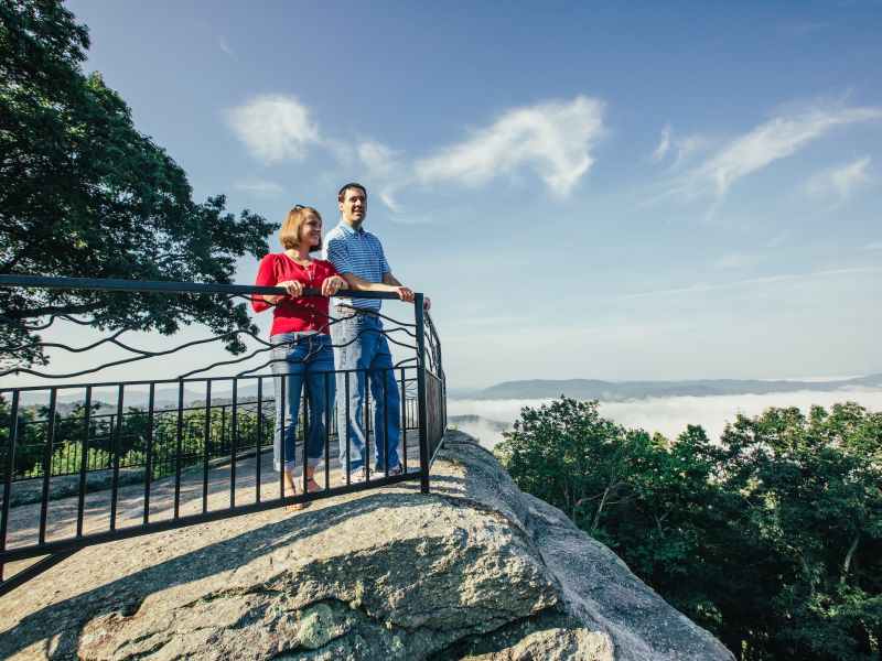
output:
[{"label": "red cardigan top worn by the blonde woman", "polygon": [[[270,253],[260,261],[255,284],[258,286],[276,286],[287,280],[299,280],[304,288],[321,289],[322,282],[337,274],[331,262],[323,259],[316,259],[306,269],[283,252]],[[289,295],[283,295],[279,296],[276,305],[269,305],[262,295],[255,295],[251,297],[251,307],[255,308],[255,312],[263,312],[272,307],[273,319],[272,328],[269,332],[270,335],[303,330],[319,330],[330,335],[327,329],[327,296],[292,299]]]}]

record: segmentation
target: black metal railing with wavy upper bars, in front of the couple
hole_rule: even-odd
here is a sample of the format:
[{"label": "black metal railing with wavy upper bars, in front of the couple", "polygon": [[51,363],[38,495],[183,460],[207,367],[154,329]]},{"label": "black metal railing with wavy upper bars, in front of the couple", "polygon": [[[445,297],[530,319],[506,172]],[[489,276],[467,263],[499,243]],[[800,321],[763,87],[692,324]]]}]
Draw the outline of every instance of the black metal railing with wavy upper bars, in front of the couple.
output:
[{"label": "black metal railing with wavy upper bars, in front of the couple", "polygon": [[[149,292],[152,296],[168,296],[170,308],[179,294],[247,301],[252,295],[284,293],[278,288],[10,275],[0,275],[0,288]],[[375,292],[341,294],[396,299],[394,294]],[[318,292],[308,290],[306,295]],[[275,405],[273,376],[263,371],[275,361],[271,346],[252,330],[237,332],[254,345],[240,357],[216,360],[178,378],[160,380],[69,382],[120,365],[137,371],[144,360],[173,364],[179,350],[211,340],[189,342],[170,349],[136,348],[131,340],[122,339],[123,334],[139,330],[133,324],[86,346],[42,343],[42,347],[55,353],[86,357],[110,345],[128,353],[121,359],[80,359],[75,369],[61,373],[51,372],[51,368],[15,365],[15,357],[34,345],[0,347],[0,378],[4,382],[0,388],[0,595],[95,543],[280,506],[295,508],[319,498],[408,480],[418,480],[421,490],[428,491],[447,412],[440,340],[431,317],[422,310],[422,295],[417,294],[412,322],[378,315],[381,334],[401,354],[392,366],[321,372],[319,383],[325,399],[337,381],[345,391],[337,393],[337,402],[345,402],[338,404],[346,421],[344,430],[338,429],[337,410],[325,408],[319,413],[322,420],[310,419],[312,400],[308,397],[309,387],[304,388],[298,400],[294,456],[284,456],[284,444],[280,451],[282,464],[286,459],[297,462],[292,473],[297,474],[299,494],[290,492],[284,473],[273,467],[273,427],[284,430],[284,408]],[[45,330],[65,321],[88,324],[83,317],[56,313],[39,328]],[[332,327],[341,322],[326,317],[325,325]],[[0,318],[2,323],[12,322]],[[230,368],[236,371],[216,376],[218,370]],[[40,383],[9,386],[15,377]],[[377,397],[384,403],[398,402],[394,412],[390,407],[383,407],[387,418],[378,431],[370,415],[373,395],[369,388],[365,389],[361,412],[364,476],[349,470],[355,447],[354,427],[349,424],[354,412],[348,397],[342,397],[358,379],[381,382]],[[280,381],[282,400],[288,383],[287,377]],[[395,426],[400,427],[397,448],[388,432]],[[319,429],[321,438],[316,443],[314,436],[308,435],[310,430]],[[387,460],[396,449],[404,468],[400,474]],[[372,470],[375,452],[384,466],[379,473]],[[341,456],[345,457],[343,465]],[[309,475],[313,470],[311,481]],[[310,490],[316,485],[322,489]],[[43,560],[29,564],[39,557]]]}]

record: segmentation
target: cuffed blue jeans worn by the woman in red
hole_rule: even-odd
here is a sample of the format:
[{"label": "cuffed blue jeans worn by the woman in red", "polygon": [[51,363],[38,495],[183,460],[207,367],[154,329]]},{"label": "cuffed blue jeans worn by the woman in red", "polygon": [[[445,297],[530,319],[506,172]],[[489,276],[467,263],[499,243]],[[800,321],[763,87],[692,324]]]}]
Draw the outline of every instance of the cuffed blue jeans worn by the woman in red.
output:
[{"label": "cuffed blue jeans worn by the woman in red", "polygon": [[[272,382],[276,387],[276,433],[272,458],[276,470],[283,464],[286,472],[295,466],[297,421],[300,393],[306,386],[308,422],[306,462],[316,466],[324,449],[324,420],[331,420],[334,404],[334,350],[331,338],[323,334],[280,333],[270,337],[272,344]],[[325,377],[325,375],[327,375]],[[281,412],[284,411],[282,422]],[[282,438],[284,455],[282,456]]]}]

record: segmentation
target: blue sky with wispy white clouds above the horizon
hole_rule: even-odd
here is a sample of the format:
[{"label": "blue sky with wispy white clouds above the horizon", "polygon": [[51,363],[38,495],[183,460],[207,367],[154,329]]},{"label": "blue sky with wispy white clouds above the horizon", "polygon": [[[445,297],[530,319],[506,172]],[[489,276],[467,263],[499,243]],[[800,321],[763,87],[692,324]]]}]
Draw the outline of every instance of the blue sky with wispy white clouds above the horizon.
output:
[{"label": "blue sky with wispy white clouds above the horizon", "polygon": [[882,2],[67,6],[197,199],[363,182],[454,387],[882,370]]}]

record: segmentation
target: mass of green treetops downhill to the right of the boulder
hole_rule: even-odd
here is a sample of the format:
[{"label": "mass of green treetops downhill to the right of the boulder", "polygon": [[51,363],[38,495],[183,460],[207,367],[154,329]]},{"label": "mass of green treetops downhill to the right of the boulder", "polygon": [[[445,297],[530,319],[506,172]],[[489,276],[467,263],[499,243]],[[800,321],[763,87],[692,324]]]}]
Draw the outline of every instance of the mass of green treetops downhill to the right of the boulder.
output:
[{"label": "mass of green treetops downhill to the right of the boulder", "polygon": [[497,452],[736,657],[880,658],[882,413],[768,409],[671,442],[562,398]]}]

